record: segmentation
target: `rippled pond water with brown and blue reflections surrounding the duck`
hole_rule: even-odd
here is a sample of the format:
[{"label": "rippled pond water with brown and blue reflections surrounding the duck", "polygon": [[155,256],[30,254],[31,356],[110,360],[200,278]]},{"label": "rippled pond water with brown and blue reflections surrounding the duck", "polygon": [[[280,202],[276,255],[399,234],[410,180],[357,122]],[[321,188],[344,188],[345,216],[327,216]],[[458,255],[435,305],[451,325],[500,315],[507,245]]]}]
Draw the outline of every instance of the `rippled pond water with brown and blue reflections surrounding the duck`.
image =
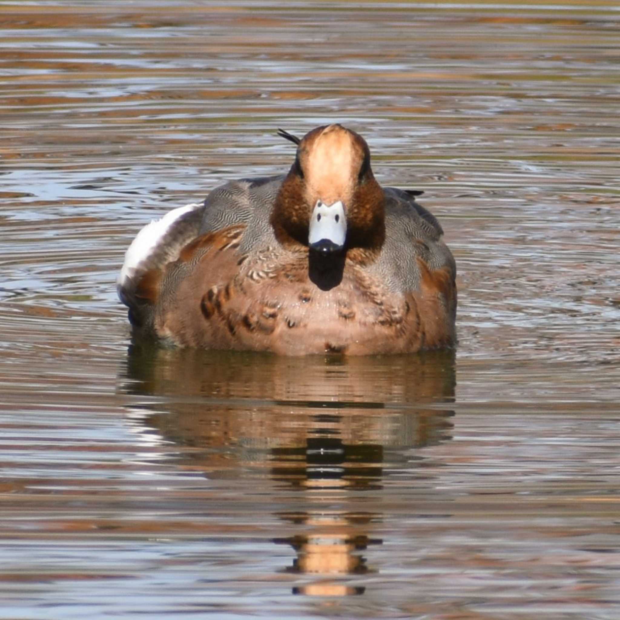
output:
[{"label": "rippled pond water with brown and blue reflections surrounding the duck", "polygon": [[[618,2],[0,2],[0,618],[620,618]],[[131,343],[138,229],[342,122],[456,351]]]}]

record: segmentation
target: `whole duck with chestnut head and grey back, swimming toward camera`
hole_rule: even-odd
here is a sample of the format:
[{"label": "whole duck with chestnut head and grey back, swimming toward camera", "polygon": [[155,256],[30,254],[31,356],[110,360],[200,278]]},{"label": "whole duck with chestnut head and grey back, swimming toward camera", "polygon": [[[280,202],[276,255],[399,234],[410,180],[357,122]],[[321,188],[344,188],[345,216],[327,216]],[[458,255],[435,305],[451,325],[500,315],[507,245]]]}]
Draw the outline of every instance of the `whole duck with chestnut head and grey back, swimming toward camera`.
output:
[{"label": "whole duck with chestnut head and grey back, swimming toward camera", "polygon": [[230,181],[144,226],[117,290],[136,338],[277,355],[454,347],[456,263],[422,192],[381,187],[340,123],[286,174]]}]

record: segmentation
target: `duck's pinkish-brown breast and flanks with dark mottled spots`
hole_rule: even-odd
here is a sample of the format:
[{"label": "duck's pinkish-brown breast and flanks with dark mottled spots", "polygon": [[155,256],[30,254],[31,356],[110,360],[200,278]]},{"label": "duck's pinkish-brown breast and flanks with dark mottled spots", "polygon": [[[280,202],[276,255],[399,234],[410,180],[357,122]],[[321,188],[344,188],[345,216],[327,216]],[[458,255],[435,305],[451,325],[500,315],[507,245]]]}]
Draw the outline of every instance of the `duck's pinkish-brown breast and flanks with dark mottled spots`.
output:
[{"label": "duck's pinkish-brown breast and flanks with dark mottled spots", "polygon": [[405,353],[453,342],[445,270],[425,268],[420,290],[404,295],[351,261],[337,284],[330,270],[313,281],[307,253],[265,247],[239,255],[239,232],[197,239],[169,266],[164,286],[177,286],[162,295],[161,337],[281,355]]}]

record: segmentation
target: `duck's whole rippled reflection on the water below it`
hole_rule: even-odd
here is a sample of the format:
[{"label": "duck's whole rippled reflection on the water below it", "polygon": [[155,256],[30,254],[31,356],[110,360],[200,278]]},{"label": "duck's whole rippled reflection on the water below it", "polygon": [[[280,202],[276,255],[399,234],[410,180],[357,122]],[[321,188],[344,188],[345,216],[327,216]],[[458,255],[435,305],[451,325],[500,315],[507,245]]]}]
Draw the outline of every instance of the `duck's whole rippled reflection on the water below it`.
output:
[{"label": "duck's whole rippled reflection on the water below it", "polygon": [[198,448],[184,453],[186,467],[268,480],[274,499],[299,492],[286,501],[299,510],[274,511],[298,533],[273,539],[296,553],[283,570],[309,580],[296,594],[364,592],[350,582],[375,570],[364,552],[383,542],[384,484],[424,480],[412,449],[449,440],[452,428],[453,352],[281,358],[131,347],[126,379],[130,394],[163,397],[149,427]]}]

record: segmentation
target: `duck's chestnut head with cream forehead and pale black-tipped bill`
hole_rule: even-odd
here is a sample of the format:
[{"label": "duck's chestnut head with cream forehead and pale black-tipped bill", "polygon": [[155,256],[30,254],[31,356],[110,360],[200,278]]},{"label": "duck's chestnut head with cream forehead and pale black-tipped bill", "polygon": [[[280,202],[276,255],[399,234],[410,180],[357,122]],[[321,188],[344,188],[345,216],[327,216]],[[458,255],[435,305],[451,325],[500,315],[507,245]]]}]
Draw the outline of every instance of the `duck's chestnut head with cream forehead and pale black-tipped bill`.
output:
[{"label": "duck's chestnut head with cream forehead and pale black-tipped bill", "polygon": [[370,149],[355,131],[325,125],[309,131],[281,185],[272,213],[278,241],[321,254],[383,244],[384,195],[370,167]]}]

